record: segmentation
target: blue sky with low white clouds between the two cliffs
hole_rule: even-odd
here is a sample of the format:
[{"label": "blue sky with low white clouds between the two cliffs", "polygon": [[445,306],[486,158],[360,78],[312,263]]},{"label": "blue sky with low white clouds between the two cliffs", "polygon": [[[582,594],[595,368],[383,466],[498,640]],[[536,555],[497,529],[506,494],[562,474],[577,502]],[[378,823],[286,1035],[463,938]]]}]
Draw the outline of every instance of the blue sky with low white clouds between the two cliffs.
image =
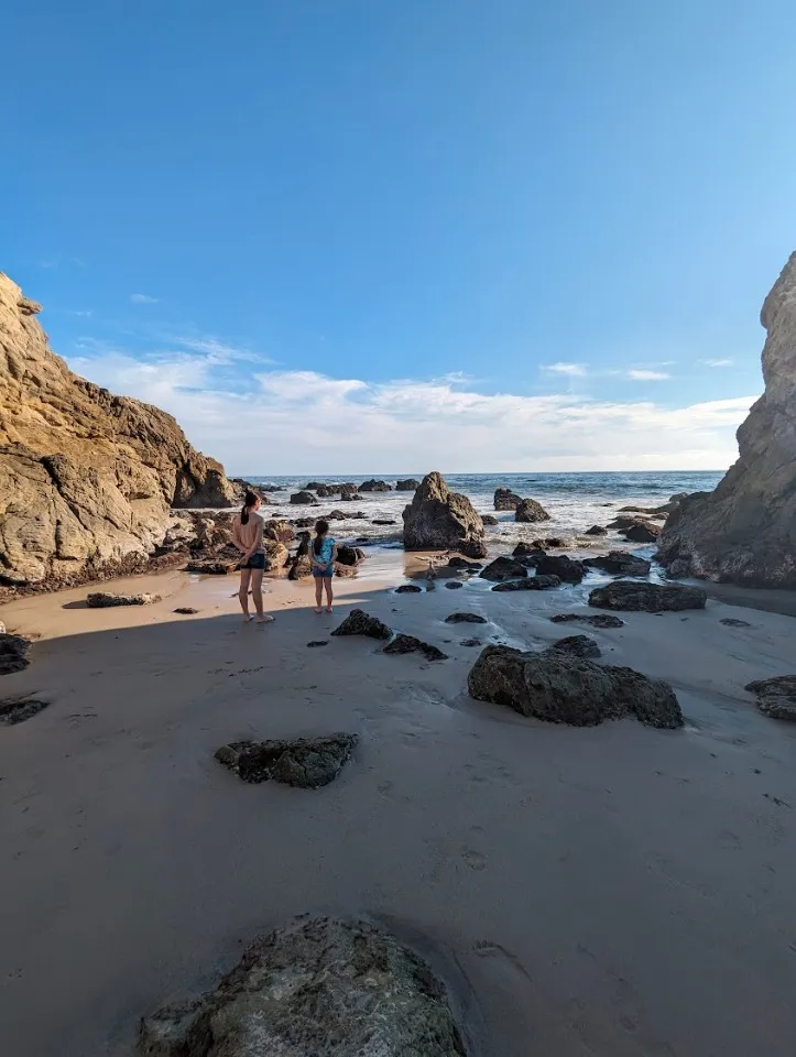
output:
[{"label": "blue sky with low white clouds between the two cliffs", "polygon": [[794,248],[786,0],[3,14],[0,230],[236,472],[721,468]]}]

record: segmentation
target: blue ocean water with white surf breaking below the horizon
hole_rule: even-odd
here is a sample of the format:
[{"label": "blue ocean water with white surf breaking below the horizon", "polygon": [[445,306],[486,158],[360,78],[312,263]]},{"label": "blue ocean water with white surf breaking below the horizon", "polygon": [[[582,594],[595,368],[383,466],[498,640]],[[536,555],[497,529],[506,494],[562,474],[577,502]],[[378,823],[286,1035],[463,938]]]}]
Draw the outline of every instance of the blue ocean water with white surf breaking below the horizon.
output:
[{"label": "blue ocean water with white surf breaking below the horizon", "polygon": [[[582,535],[591,525],[604,525],[612,520],[619,508],[632,504],[639,506],[659,506],[677,492],[709,492],[718,484],[723,471],[636,471],[624,473],[450,473],[445,475],[449,488],[464,492],[480,514],[493,514],[497,526],[487,528],[487,541],[513,546],[520,540],[536,536],[573,537]],[[318,506],[294,506],[290,504],[292,492],[298,491],[308,481],[338,482],[351,481],[360,484],[369,477],[395,484],[400,478],[423,478],[423,473],[401,473],[379,477],[379,475],[342,475],[317,477],[252,477],[250,480],[259,487],[268,483],[282,486],[285,491],[266,491],[269,502],[263,512],[269,515],[286,517],[319,517],[331,510],[345,513],[362,512],[364,519],[335,522],[332,531],[338,540],[353,540],[369,536],[383,546],[399,546],[401,540],[404,506],[411,502],[412,492],[363,492],[362,500],[355,503],[341,503],[339,499],[321,499]],[[550,521],[537,525],[522,525],[514,521],[510,511],[499,512],[493,506],[497,488],[510,488],[523,498],[535,499],[550,514]],[[394,525],[373,525],[372,521],[394,521]],[[596,537],[601,547],[607,543],[620,543],[609,537]],[[628,544],[621,541],[623,547]]]}]

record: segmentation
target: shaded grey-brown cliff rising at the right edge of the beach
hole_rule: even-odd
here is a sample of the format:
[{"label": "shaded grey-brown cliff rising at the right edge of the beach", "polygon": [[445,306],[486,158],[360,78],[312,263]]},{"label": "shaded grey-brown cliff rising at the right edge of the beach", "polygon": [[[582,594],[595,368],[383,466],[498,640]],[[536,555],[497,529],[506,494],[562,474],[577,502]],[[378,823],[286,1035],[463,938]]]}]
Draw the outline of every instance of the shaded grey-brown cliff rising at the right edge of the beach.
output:
[{"label": "shaded grey-brown cliff rising at the right edge of the beach", "polygon": [[738,431],[740,458],[715,492],[669,516],[659,557],[672,576],[796,588],[796,253],[765,298],[765,392]]}]

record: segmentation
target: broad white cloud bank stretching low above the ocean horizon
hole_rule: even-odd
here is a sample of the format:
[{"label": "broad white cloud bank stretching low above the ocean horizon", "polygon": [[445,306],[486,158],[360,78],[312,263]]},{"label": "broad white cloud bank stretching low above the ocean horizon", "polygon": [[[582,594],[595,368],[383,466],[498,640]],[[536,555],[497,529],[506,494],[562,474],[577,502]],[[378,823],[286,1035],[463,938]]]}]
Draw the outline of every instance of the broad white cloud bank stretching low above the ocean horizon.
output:
[{"label": "broad white cloud bank stretching low above the ocean horizon", "polygon": [[272,370],[223,381],[214,351],[142,360],[86,346],[70,366],[171,412],[232,473],[721,469],[755,396],[663,407],[486,394],[462,379],[383,383]]}]

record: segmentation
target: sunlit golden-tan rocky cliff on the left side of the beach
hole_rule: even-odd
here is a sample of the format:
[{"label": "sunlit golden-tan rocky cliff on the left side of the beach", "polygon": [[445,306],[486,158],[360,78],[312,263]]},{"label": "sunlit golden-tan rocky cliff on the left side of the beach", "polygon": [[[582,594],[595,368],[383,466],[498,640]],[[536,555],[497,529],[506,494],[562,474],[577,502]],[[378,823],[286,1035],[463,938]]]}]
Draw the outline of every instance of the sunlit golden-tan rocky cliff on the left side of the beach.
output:
[{"label": "sunlit golden-tan rocky cliff on the left side of the beach", "polygon": [[0,584],[143,567],[175,506],[228,506],[223,467],[171,415],[74,374],[0,272]]}]

